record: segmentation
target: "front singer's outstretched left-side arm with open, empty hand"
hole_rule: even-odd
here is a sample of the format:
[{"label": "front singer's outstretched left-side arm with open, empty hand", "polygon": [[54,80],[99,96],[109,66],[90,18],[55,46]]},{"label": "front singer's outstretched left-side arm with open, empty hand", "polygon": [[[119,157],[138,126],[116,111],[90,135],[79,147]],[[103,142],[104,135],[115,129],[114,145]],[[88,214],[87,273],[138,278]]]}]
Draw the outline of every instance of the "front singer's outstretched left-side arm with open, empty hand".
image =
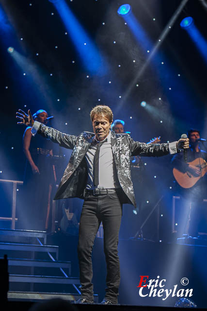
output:
[{"label": "front singer's outstretched left-side arm with open, empty hand", "polygon": [[51,141],[58,143],[61,147],[73,149],[77,136],[68,135],[61,133],[51,127],[48,127],[38,121],[33,121],[32,114],[30,110],[28,110],[28,114],[26,114],[23,110],[18,110],[16,112],[16,118],[19,119],[21,122],[17,122],[17,124],[25,124],[27,126],[32,126],[31,133],[34,136],[36,133],[40,134],[41,136],[50,139]]}]

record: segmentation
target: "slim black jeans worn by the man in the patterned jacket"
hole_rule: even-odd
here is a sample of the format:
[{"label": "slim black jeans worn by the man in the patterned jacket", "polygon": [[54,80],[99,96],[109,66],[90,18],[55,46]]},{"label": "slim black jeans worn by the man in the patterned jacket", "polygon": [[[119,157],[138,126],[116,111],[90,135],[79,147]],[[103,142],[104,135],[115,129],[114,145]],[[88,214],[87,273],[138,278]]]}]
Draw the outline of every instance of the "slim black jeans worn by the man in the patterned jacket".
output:
[{"label": "slim black jeans worn by the man in the patterned jacket", "polygon": [[94,299],[91,256],[96,233],[102,221],[104,253],[107,263],[105,299],[117,303],[120,284],[120,266],[117,247],[121,218],[122,204],[116,193],[86,195],[80,217],[78,245],[81,295],[84,298]]}]

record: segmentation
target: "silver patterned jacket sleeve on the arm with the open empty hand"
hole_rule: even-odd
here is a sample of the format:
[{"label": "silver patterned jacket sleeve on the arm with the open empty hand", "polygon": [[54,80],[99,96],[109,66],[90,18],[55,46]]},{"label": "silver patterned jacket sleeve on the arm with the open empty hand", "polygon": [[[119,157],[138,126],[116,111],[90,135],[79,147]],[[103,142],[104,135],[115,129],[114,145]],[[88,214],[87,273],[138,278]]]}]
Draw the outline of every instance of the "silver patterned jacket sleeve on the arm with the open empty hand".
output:
[{"label": "silver patterned jacket sleeve on the arm with the open empty hand", "polygon": [[77,141],[77,136],[61,133],[54,128],[48,127],[37,121],[34,122],[31,133],[33,136],[38,133],[67,149],[73,149]]}]

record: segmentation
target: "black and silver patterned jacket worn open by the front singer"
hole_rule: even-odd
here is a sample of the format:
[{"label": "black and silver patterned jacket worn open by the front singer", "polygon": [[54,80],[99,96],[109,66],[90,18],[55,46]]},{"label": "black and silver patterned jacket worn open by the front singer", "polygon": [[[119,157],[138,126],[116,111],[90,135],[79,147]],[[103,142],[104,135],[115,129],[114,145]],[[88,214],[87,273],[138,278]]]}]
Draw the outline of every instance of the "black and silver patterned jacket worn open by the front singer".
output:
[{"label": "black and silver patterned jacket worn open by the front singer", "polygon": [[[61,147],[73,149],[54,200],[74,197],[84,199],[84,189],[88,177],[85,154],[93,142],[95,134],[83,132],[77,137],[61,133],[44,124],[40,125],[38,134],[58,143]],[[111,132],[111,147],[116,173],[122,190],[121,201],[136,207],[131,181],[130,157],[134,155],[168,155],[169,144],[145,144],[134,141],[128,134],[113,134]]]}]

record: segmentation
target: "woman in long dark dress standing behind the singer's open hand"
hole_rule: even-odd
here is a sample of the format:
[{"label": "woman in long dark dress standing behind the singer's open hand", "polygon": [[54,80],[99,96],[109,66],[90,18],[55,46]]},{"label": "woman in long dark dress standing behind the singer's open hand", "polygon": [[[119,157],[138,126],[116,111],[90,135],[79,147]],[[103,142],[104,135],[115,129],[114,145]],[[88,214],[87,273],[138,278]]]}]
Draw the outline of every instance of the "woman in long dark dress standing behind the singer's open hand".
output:
[{"label": "woman in long dark dress standing behind the singer's open hand", "polygon": [[[43,109],[33,114],[35,121],[48,123],[48,113]],[[52,143],[41,136],[32,137],[31,127],[23,135],[23,151],[26,156],[24,171],[24,202],[19,208],[18,228],[27,230],[47,230],[51,217],[53,168],[50,163]]]}]

